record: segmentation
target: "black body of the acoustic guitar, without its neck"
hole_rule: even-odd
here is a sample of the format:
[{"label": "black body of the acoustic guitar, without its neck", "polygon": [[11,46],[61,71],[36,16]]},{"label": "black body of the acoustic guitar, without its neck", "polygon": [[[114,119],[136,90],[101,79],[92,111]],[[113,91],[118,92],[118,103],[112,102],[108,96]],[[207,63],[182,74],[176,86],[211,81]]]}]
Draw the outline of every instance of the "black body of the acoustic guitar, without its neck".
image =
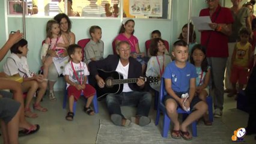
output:
[{"label": "black body of the acoustic guitar, without its neck", "polygon": [[104,88],[96,87],[97,97],[103,98],[108,94],[120,94],[123,91],[123,84],[112,85],[112,80],[123,79],[123,75],[117,71],[103,71],[98,69],[98,74],[105,81]]}]

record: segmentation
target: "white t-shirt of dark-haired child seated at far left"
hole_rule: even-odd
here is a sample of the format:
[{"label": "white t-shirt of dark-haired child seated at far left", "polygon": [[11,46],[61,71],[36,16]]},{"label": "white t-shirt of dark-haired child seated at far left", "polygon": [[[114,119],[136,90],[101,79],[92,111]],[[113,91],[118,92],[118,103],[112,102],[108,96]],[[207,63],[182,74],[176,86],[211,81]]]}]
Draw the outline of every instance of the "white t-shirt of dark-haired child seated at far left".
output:
[{"label": "white t-shirt of dark-haired child seated at far left", "polygon": [[4,64],[4,73],[8,76],[13,76],[14,74],[18,74],[21,77],[32,77],[35,73],[29,71],[28,62],[25,56],[19,58],[15,53],[11,53],[11,55],[6,59]]}]

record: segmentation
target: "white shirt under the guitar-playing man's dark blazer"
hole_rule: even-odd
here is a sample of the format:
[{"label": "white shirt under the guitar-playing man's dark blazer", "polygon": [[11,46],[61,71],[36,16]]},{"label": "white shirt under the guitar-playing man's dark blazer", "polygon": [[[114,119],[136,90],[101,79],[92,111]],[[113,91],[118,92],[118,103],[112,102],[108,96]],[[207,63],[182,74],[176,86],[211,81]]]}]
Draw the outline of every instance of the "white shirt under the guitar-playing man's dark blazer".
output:
[{"label": "white shirt under the guitar-playing man's dark blazer", "polygon": [[[123,74],[124,79],[127,79],[128,77],[128,70],[129,70],[129,64],[127,64],[125,67],[121,64],[121,61],[119,60],[117,69],[115,71]],[[130,92],[132,89],[130,89],[128,83],[124,83],[123,92]]]}]

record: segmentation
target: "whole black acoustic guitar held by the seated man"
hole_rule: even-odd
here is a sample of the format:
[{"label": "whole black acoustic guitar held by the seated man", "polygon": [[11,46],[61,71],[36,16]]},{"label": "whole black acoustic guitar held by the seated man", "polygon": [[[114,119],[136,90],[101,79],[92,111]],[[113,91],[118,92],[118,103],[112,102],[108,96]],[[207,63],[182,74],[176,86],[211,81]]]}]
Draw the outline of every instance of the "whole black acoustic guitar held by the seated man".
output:
[{"label": "whole black acoustic guitar held by the seated man", "polygon": [[98,69],[98,74],[105,81],[104,88],[96,86],[98,99],[105,97],[108,94],[120,94],[123,91],[124,83],[136,83],[138,79],[143,79],[148,83],[158,83],[159,77],[139,77],[132,79],[123,79],[123,75],[117,71],[104,71]]}]

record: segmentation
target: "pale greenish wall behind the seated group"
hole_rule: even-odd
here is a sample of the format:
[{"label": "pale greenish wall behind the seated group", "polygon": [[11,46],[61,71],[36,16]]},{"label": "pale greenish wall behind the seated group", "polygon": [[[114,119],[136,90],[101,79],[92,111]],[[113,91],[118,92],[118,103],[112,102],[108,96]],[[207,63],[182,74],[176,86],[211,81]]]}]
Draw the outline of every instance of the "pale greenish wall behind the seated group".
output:
[{"label": "pale greenish wall behind the seated group", "polygon": [[[5,1],[5,0],[4,0]],[[0,30],[1,40],[0,46],[4,44],[6,33],[22,29],[22,17],[8,16],[8,29],[4,29],[4,2],[0,1]],[[187,23],[188,6],[187,0],[172,0],[171,20],[163,19],[135,19],[135,36],[139,39],[139,47],[145,52],[145,41],[150,38],[151,31],[158,29],[162,32],[162,38],[169,41],[172,45],[177,40],[184,23]],[[206,3],[202,0],[192,0],[192,16],[198,16],[200,10],[206,7]],[[38,71],[41,66],[39,53],[41,49],[41,41],[45,39],[46,22],[51,17],[26,17],[26,40],[28,40],[28,64],[32,71]],[[112,40],[118,34],[121,26],[120,19],[87,19],[87,18],[71,18],[72,31],[76,35],[76,42],[82,38],[89,38],[88,30],[91,25],[99,25],[102,28],[102,40],[105,43],[104,56],[112,54]],[[198,40],[200,40],[198,38]],[[198,41],[199,43],[200,41]],[[6,56],[5,56],[6,57]],[[0,71],[4,60],[0,62]],[[55,89],[63,88],[62,80],[55,85]]]}]

